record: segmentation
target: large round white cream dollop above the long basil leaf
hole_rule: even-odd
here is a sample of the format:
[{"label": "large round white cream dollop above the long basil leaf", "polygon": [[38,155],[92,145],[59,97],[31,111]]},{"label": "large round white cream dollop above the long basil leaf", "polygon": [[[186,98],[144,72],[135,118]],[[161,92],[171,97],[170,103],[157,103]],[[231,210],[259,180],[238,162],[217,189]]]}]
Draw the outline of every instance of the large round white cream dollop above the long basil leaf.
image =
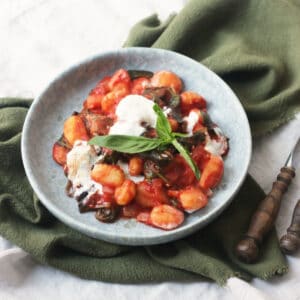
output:
[{"label": "large round white cream dollop above the long basil leaf", "polygon": [[117,121],[110,128],[109,134],[140,136],[146,130],[141,125],[143,122],[155,127],[157,116],[153,105],[153,101],[140,95],[124,97],[117,106]]}]

